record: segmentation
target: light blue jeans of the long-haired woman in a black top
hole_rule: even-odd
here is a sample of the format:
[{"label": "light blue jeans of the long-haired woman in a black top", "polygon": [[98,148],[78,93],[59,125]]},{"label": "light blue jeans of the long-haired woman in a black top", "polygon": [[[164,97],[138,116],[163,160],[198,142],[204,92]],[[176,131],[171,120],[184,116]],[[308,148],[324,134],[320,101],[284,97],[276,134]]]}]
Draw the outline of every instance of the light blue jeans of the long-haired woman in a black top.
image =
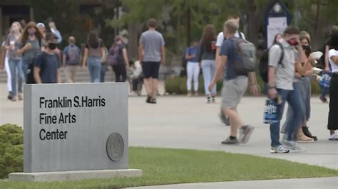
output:
[{"label": "light blue jeans of the long-haired woman in a black top", "polygon": [[[210,91],[208,90],[209,84],[214,77],[216,72],[215,60],[202,60],[202,70],[203,70],[203,78],[204,78],[204,90],[205,95],[210,95]],[[216,95],[216,85],[211,90],[211,95]]]}]

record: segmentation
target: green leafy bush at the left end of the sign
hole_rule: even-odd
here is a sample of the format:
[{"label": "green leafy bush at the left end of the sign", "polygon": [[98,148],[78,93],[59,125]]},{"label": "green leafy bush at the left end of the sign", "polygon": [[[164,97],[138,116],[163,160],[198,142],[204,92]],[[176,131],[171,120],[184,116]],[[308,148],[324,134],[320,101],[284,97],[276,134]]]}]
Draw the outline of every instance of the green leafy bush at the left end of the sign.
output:
[{"label": "green leafy bush at the left end of the sign", "polygon": [[0,126],[0,178],[23,169],[24,136],[20,126]]}]

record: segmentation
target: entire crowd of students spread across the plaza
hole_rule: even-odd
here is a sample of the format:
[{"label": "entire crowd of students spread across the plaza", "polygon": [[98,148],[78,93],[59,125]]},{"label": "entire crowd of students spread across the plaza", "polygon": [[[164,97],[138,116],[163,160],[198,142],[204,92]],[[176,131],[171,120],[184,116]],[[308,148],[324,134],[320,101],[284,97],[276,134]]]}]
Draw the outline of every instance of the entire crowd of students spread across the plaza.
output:
[{"label": "entire crowd of students spread across the plaza", "polygon": [[[207,103],[215,102],[217,80],[223,80],[220,119],[230,125],[230,134],[222,144],[246,144],[255,129],[242,120],[237,107],[248,88],[253,95],[260,94],[255,74],[257,62],[260,62],[267,97],[277,109],[275,120],[270,122],[272,153],[302,152],[306,149],[299,146],[299,142],[317,140],[307,125],[311,114],[312,79],[318,80],[322,87],[319,97],[322,102],[328,101],[326,94],[329,92],[329,140],[338,141],[335,133],[338,129],[338,26],[332,27],[331,37],[322,50],[324,55],[319,60],[320,56],[312,54],[309,33],[299,31],[295,26],[288,26],[284,33],[278,33],[274,44],[260,52],[262,49],[256,50],[255,45],[246,41],[244,33],[239,31],[239,24],[240,16],[230,14],[217,36],[215,27],[208,24],[200,41],[193,41],[184,55],[189,97],[199,95],[200,68]],[[83,53],[76,45],[76,38],[69,36],[68,45],[61,51],[58,49],[61,33],[55,23],[48,23],[48,26],[50,32],[46,33],[43,23],[30,22],[24,29],[18,22],[11,24],[3,43],[5,67],[11,82],[9,99],[22,99],[24,80],[27,83],[61,82],[61,67],[66,70],[67,82],[74,82],[81,64],[84,70],[88,69],[91,82],[104,82],[108,66],[113,68],[116,82],[126,82],[128,77],[131,78],[135,92],[140,90],[144,81],[148,94],[145,102],[157,103],[159,68],[165,65],[165,41],[156,31],[155,19],[148,21],[148,31],[140,35],[138,61],[135,63],[128,59],[121,36],[116,36],[111,47],[107,48],[92,31],[88,34]],[[320,63],[317,64],[317,60]],[[315,67],[321,70],[317,72]],[[132,70],[130,76],[127,74],[129,68]],[[280,129],[286,102],[289,105],[287,117]],[[280,132],[284,134],[282,139]]]}]

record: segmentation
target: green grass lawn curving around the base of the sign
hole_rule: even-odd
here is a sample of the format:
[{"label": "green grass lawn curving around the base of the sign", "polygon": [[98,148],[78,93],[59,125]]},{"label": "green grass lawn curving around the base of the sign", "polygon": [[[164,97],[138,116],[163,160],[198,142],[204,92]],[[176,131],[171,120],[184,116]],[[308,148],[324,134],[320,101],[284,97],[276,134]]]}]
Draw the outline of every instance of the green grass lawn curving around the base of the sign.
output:
[{"label": "green grass lawn curving around the base of the sign", "polygon": [[0,181],[0,188],[121,188],[141,185],[338,176],[338,171],[274,158],[169,148],[129,148],[129,167],[140,178],[53,183]]}]

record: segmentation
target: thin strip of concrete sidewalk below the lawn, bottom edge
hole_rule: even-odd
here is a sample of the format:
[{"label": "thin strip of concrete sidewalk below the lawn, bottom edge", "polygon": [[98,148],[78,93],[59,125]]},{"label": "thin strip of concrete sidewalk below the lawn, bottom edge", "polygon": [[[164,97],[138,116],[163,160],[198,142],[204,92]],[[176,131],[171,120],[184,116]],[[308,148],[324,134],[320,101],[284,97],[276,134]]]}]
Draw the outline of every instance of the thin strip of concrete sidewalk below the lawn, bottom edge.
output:
[{"label": "thin strip of concrete sidewalk below the lawn, bottom edge", "polygon": [[[260,189],[299,189],[299,188],[338,188],[338,177],[301,178],[280,180],[252,180],[222,183],[190,183],[178,185],[155,185],[136,187],[137,189],[224,189],[224,188],[260,188]],[[135,188],[135,189],[136,189]]]}]

